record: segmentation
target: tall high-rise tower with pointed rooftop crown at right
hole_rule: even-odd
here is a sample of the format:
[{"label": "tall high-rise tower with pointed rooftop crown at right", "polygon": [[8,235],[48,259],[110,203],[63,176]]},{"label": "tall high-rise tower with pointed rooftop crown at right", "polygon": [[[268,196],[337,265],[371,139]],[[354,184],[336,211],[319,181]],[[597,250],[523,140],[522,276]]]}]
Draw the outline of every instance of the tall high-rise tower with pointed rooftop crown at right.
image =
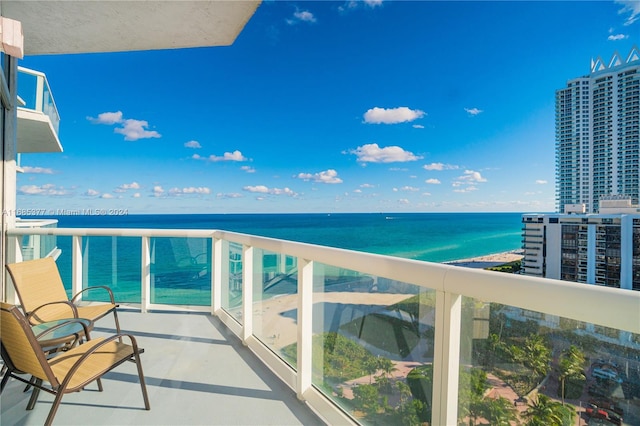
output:
[{"label": "tall high-rise tower with pointed rooftop crown at right", "polygon": [[597,213],[600,198],[639,203],[640,51],[623,60],[591,61],[589,75],[556,91],[556,207],[584,205]]}]

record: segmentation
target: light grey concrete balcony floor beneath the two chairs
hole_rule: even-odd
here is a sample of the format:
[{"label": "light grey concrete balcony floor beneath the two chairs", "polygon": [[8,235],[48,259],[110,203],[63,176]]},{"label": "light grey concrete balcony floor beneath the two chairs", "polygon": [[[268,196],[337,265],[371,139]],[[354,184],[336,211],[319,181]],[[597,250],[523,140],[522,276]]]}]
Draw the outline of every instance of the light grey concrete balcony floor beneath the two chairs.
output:
[{"label": "light grey concrete balcony floor beneath the two chairs", "polygon": [[[142,366],[151,410],[144,410],[135,364],[125,363],[95,383],[62,398],[58,425],[321,425],[217,318],[201,313],[119,311],[123,332],[144,348]],[[93,337],[112,334],[112,317],[96,323]],[[41,425],[53,395],[30,392],[11,379],[0,397],[2,424]]]}]

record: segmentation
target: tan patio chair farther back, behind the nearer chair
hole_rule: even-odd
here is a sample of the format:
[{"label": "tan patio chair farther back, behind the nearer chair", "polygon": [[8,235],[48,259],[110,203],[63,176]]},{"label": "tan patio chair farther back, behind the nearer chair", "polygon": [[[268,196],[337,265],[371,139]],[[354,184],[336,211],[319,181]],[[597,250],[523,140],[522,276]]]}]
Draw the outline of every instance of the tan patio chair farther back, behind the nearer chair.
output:
[{"label": "tan patio chair farther back, behind the nearer chair", "polygon": [[[66,318],[86,318],[91,321],[113,312],[116,333],[120,333],[120,323],[113,292],[107,286],[88,287],[69,300],[62,284],[60,272],[51,257],[27,260],[7,265],[13,286],[20,299],[22,309],[32,325]],[[79,305],[79,297],[90,290],[104,290],[110,302]]]}]

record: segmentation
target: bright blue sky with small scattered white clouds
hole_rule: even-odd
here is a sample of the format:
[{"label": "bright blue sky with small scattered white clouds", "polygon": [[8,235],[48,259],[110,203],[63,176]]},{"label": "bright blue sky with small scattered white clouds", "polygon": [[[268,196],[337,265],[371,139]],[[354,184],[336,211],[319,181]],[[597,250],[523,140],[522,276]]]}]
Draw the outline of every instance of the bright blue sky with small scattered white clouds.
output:
[{"label": "bright blue sky with small scattered white clouds", "polygon": [[[553,211],[554,92],[640,2],[267,1],[229,47],[26,57],[61,115],[18,208]],[[19,84],[19,83],[18,83]]]}]

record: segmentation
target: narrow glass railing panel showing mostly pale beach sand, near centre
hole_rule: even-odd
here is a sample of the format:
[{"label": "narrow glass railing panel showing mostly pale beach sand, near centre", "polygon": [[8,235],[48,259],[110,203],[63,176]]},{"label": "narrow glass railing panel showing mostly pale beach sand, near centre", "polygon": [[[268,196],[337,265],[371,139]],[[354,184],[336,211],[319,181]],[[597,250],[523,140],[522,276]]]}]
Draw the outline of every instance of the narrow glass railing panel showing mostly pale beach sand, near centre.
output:
[{"label": "narrow glass railing panel showing mostly pale beach sand, near centre", "polygon": [[297,258],[255,249],[253,270],[253,334],[282,354],[297,337]]}]

